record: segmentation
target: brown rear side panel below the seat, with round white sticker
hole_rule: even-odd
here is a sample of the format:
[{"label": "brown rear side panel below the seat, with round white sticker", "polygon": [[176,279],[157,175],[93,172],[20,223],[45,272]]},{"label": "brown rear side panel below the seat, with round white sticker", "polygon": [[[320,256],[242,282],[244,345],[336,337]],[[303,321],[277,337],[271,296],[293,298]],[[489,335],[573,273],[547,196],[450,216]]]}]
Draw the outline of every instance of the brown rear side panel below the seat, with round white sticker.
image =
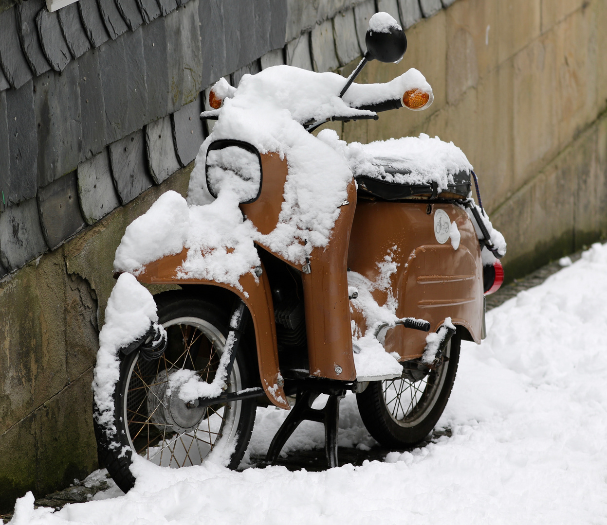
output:
[{"label": "brown rear side panel below the seat, with round white sticker", "polygon": [[[427,213],[428,206],[431,207]],[[439,244],[434,233],[436,209],[455,221],[461,239],[455,250],[450,239]],[[435,331],[447,317],[465,327],[480,343],[483,325],[483,267],[480,246],[467,213],[449,203],[359,201],[351,232],[348,267],[371,281],[379,275],[378,262],[391,255],[398,264],[392,289],[399,317],[429,321]],[[373,293],[379,304],[387,294]],[[357,323],[361,316],[353,315]],[[365,327],[362,327],[363,331]],[[387,352],[401,360],[418,358],[426,345],[426,333],[397,326],[385,333]]]}]

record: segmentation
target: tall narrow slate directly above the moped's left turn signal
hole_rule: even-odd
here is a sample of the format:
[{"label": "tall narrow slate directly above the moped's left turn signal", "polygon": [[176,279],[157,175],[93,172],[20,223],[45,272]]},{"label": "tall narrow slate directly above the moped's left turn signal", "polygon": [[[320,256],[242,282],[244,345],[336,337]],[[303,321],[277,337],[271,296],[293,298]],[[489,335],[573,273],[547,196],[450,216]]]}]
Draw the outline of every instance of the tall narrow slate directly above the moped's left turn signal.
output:
[{"label": "tall narrow slate directly above the moped's left turn signal", "polygon": [[223,75],[231,73],[225,69],[226,48],[221,2],[198,2],[198,19],[202,47],[202,85],[208,87]]}]

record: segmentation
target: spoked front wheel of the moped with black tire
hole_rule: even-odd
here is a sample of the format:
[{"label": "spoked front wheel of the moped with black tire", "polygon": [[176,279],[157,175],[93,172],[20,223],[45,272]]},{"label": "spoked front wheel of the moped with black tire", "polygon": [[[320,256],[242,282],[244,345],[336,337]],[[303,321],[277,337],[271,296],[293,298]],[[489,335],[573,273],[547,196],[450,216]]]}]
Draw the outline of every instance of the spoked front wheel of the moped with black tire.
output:
[{"label": "spoked front wheel of the moped with black tire", "polygon": [[[129,468],[133,450],[166,467],[200,464],[215,450],[223,456],[223,464],[236,469],[255,422],[254,399],[187,409],[183,401],[166,394],[167,378],[178,369],[197,370],[205,381],[212,381],[228,335],[229,313],[181,293],[160,294],[155,299],[158,321],[168,335],[167,349],[154,361],[144,360],[139,352],[121,356],[114,390],[114,441],[119,446],[95,425],[100,461],[124,492],[135,484]],[[236,355],[228,392],[256,386],[243,346]]]}]

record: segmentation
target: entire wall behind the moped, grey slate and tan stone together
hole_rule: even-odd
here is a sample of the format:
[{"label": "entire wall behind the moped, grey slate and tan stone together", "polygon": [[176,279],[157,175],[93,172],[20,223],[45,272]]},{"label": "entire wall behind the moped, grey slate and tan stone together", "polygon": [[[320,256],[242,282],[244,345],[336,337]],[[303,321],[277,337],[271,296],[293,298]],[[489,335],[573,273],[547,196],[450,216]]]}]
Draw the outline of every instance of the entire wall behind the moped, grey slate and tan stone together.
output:
[{"label": "entire wall behind the moped, grey slate and tan stone together", "polygon": [[347,75],[368,18],[390,12],[407,54],[359,81],[416,67],[435,102],[331,127],[453,140],[513,276],[607,233],[603,3],[80,0],[49,14],[0,0],[0,510],[97,464],[90,383],[114,252],[158,195],[185,195],[212,82],[282,63]]}]

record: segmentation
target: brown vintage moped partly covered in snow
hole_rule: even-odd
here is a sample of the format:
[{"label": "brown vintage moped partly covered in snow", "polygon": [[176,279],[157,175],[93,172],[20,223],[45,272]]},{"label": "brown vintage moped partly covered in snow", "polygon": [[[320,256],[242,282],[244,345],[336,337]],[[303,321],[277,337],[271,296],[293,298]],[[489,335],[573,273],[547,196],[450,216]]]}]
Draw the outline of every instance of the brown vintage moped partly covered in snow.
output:
[{"label": "brown vintage moped partly covered in snow", "polygon": [[[402,57],[404,32],[396,22],[371,27],[367,48],[341,93],[335,93],[346,102],[367,61]],[[218,83],[209,96],[215,109],[202,118],[222,119],[222,104],[237,92]],[[358,113],[299,124],[312,132],[331,119],[376,119],[384,110],[424,109],[429,102],[431,93],[412,88],[398,99],[359,104]],[[277,460],[301,421],[312,420],[324,424],[327,462],[337,466],[339,401],[348,391],[356,393],[362,420],[382,446],[418,443],[446,406],[460,342],[483,338],[484,295],[503,280],[498,259],[504,249],[471,198],[469,169],[444,174],[448,182],[439,187],[433,180],[408,180],[407,159],[398,151],[372,158],[383,175],[353,169],[328,243],[305,252],[302,264],[262,237],[280,221],[291,169],[287,155],[260,153],[236,138],[211,137],[197,160],[205,162],[209,192],[212,174],[224,169],[225,156],[219,154],[236,150],[254,159],[259,175],[240,173],[256,184],[253,198],[242,200],[240,210],[261,235],[255,241],[260,262],[235,286],[184,273],[188,252],[195,249],[184,246],[137,273],[140,283],[179,289],[154,297],[157,327],[118,353],[114,432],[96,424],[100,458],[123,490],[135,481],[129,469],[133,453],[169,467],[200,464],[215,453],[226,466],[238,467],[256,407],[268,404],[290,410],[270,444],[268,463]],[[251,164],[243,166],[246,172]],[[369,304],[391,309],[392,317],[373,317]],[[381,344],[391,367],[374,369],[367,363],[365,368],[362,358],[357,361],[367,355],[363,343],[368,340]],[[219,390],[185,400],[172,381],[184,370]],[[321,394],[328,395],[327,403],[313,408]]]}]

